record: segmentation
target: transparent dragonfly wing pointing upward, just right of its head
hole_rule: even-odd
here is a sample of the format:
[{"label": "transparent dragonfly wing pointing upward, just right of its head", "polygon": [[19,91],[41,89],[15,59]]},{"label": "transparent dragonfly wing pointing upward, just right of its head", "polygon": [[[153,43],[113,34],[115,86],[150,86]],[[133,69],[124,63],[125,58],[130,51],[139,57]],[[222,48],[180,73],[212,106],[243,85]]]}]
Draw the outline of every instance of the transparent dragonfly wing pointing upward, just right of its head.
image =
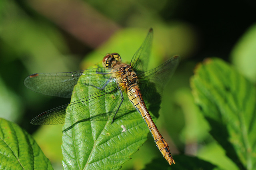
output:
[{"label": "transparent dragonfly wing pointing upward, just right of its head", "polygon": [[150,50],[153,40],[153,29],[150,28],[148,35],[138,51],[132,57],[130,65],[138,74],[146,71],[148,68],[148,58],[150,57]]}]

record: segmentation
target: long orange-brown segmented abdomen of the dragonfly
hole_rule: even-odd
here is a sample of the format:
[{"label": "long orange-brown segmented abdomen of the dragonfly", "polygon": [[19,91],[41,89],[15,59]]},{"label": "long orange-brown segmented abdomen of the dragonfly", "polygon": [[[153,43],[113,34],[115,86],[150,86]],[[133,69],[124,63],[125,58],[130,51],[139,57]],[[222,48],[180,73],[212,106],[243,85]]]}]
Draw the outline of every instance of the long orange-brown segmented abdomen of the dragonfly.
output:
[{"label": "long orange-brown segmented abdomen of the dragonfly", "polygon": [[146,122],[155,142],[156,146],[164,156],[164,158],[168,161],[168,163],[175,164],[169,146],[158,131],[156,125],[154,124],[150,114],[148,113],[148,110],[146,108],[145,102],[142,98],[142,94],[140,93],[140,89],[138,85],[132,85],[127,88],[127,94],[128,98],[134,105],[134,107],[137,109],[137,111],[140,113],[144,121]]}]

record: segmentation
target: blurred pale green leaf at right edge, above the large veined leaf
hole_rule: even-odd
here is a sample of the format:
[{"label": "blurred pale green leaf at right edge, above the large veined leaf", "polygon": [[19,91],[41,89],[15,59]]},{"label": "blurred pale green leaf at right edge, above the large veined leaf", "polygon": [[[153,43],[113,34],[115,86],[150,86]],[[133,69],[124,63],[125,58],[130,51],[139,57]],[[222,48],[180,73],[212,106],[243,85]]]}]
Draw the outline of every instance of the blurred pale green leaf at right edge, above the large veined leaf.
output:
[{"label": "blurred pale green leaf at right edge, above the large veined leaf", "polygon": [[240,73],[256,82],[256,24],[252,25],[236,43],[231,59]]}]

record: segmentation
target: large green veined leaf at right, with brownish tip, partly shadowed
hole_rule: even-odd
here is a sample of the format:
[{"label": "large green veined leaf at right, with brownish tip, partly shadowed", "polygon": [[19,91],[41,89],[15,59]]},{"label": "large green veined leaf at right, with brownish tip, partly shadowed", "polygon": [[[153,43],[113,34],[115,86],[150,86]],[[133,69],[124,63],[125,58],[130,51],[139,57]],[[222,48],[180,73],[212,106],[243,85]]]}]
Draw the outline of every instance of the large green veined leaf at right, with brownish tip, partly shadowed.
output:
[{"label": "large green veined leaf at right, with brownish tip, partly shadowed", "polygon": [[198,65],[191,81],[196,104],[210,134],[240,169],[256,167],[256,91],[254,85],[220,59]]}]

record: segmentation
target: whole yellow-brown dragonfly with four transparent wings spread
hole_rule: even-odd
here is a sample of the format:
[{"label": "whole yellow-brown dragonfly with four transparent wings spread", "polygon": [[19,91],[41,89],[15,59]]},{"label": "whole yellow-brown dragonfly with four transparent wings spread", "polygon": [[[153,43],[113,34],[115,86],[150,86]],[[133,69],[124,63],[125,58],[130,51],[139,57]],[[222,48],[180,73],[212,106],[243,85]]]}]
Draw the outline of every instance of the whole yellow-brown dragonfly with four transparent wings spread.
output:
[{"label": "whole yellow-brown dragonfly with four transparent wings spread", "polygon": [[[56,125],[66,123],[65,117],[71,114],[70,111],[76,110],[72,112],[74,114],[72,116],[76,118],[78,115],[84,114],[86,109],[96,109],[98,114],[96,116],[84,114],[82,116],[84,119],[74,119],[74,121],[78,123],[85,120],[102,121],[109,119],[112,115],[113,123],[116,119],[121,119],[127,114],[124,101],[129,100],[146,122],[162,156],[170,165],[175,164],[169,146],[153,122],[146,104],[150,105],[154,101],[158,101],[154,97],[160,98],[164,85],[178,66],[180,57],[174,56],[158,67],[147,71],[152,38],[153,29],[150,28],[146,39],[132,57],[130,64],[122,63],[118,53],[108,53],[102,60],[103,67],[65,73],[35,73],[26,77],[24,85],[44,95],[70,98],[78,81],[82,81],[84,86],[96,91],[78,101],[72,101],[41,113],[32,119],[31,124]],[[152,96],[152,94],[158,95]],[[112,109],[108,109],[109,111],[100,107],[100,105],[105,104],[106,100],[113,106]],[[86,107],[84,107],[85,105]]]}]

